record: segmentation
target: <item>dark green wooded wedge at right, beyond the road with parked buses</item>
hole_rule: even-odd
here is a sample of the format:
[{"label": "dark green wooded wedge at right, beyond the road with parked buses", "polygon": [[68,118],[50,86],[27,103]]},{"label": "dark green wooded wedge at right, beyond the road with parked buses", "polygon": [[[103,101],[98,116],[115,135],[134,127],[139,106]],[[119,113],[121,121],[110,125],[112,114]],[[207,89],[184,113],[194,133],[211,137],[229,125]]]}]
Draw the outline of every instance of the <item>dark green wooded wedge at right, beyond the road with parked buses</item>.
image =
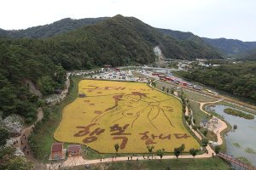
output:
[{"label": "dark green wooded wedge at right, beyond the road with parked buses", "polygon": [[180,71],[177,74],[236,94],[242,97],[256,99],[256,62],[242,62],[219,66],[196,66],[189,71]]}]

